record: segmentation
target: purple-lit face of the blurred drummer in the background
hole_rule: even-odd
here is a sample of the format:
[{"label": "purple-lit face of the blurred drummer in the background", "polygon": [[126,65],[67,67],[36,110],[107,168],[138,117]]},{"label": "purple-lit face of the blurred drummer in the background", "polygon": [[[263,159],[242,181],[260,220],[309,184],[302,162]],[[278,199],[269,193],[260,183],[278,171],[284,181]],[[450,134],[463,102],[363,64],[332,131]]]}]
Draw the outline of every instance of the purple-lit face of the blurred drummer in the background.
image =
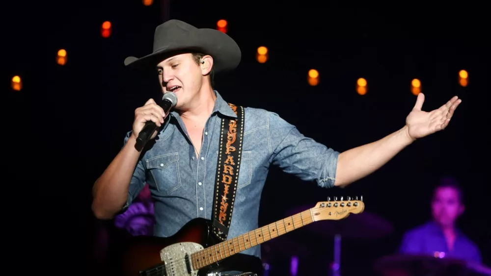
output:
[{"label": "purple-lit face of the blurred drummer in the background", "polygon": [[431,206],[433,218],[440,226],[454,226],[457,218],[464,212],[459,192],[451,187],[437,188]]}]

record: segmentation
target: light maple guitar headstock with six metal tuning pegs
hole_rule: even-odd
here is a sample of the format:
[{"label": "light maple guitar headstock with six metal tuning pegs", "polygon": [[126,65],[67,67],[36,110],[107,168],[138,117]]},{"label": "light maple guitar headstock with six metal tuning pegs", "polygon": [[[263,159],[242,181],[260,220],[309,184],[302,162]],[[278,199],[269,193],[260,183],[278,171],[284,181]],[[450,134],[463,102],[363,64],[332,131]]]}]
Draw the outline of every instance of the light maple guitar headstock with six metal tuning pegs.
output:
[{"label": "light maple guitar headstock with six metal tuning pegs", "polygon": [[358,200],[358,197],[355,197],[355,199],[348,197],[347,200],[343,200],[341,197],[339,201],[334,197],[334,201],[327,198],[327,201],[317,202],[311,210],[314,221],[322,221],[341,220],[350,214],[359,214],[364,209],[363,197],[360,200]]}]

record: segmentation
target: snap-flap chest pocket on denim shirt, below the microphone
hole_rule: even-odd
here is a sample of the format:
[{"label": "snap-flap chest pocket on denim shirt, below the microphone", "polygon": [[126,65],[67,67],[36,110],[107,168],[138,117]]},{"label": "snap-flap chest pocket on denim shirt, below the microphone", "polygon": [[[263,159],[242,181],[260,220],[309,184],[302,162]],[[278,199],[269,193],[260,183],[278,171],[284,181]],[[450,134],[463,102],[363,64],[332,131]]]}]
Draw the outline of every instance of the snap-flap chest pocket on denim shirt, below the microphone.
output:
[{"label": "snap-flap chest pocket on denim shirt, below the microphone", "polygon": [[155,182],[155,187],[164,196],[172,194],[182,186],[177,152],[148,159],[147,169]]}]

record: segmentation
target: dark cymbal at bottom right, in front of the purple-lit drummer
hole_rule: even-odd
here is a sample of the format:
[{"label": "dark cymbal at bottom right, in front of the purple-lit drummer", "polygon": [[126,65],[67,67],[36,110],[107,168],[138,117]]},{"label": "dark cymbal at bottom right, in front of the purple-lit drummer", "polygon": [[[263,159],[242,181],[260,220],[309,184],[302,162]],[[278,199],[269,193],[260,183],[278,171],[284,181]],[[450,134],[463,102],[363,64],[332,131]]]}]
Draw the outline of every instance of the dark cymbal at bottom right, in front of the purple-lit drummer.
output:
[{"label": "dark cymbal at bottom right, in front of the purple-lit drummer", "polygon": [[375,270],[384,276],[491,276],[481,264],[419,254],[384,256],[375,262]]}]

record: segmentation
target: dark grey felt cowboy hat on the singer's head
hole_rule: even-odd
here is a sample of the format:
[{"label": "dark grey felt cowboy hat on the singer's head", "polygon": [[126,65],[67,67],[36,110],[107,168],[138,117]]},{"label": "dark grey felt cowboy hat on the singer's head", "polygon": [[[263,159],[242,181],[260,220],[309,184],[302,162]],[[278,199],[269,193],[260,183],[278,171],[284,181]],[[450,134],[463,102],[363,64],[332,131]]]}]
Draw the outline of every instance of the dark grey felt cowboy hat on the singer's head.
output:
[{"label": "dark grey felt cowboy hat on the singer's head", "polygon": [[129,56],[124,64],[129,67],[153,69],[164,59],[185,52],[211,55],[215,73],[231,71],[241,61],[239,46],[227,34],[215,29],[198,29],[173,19],[155,29],[151,54],[140,58]]}]

